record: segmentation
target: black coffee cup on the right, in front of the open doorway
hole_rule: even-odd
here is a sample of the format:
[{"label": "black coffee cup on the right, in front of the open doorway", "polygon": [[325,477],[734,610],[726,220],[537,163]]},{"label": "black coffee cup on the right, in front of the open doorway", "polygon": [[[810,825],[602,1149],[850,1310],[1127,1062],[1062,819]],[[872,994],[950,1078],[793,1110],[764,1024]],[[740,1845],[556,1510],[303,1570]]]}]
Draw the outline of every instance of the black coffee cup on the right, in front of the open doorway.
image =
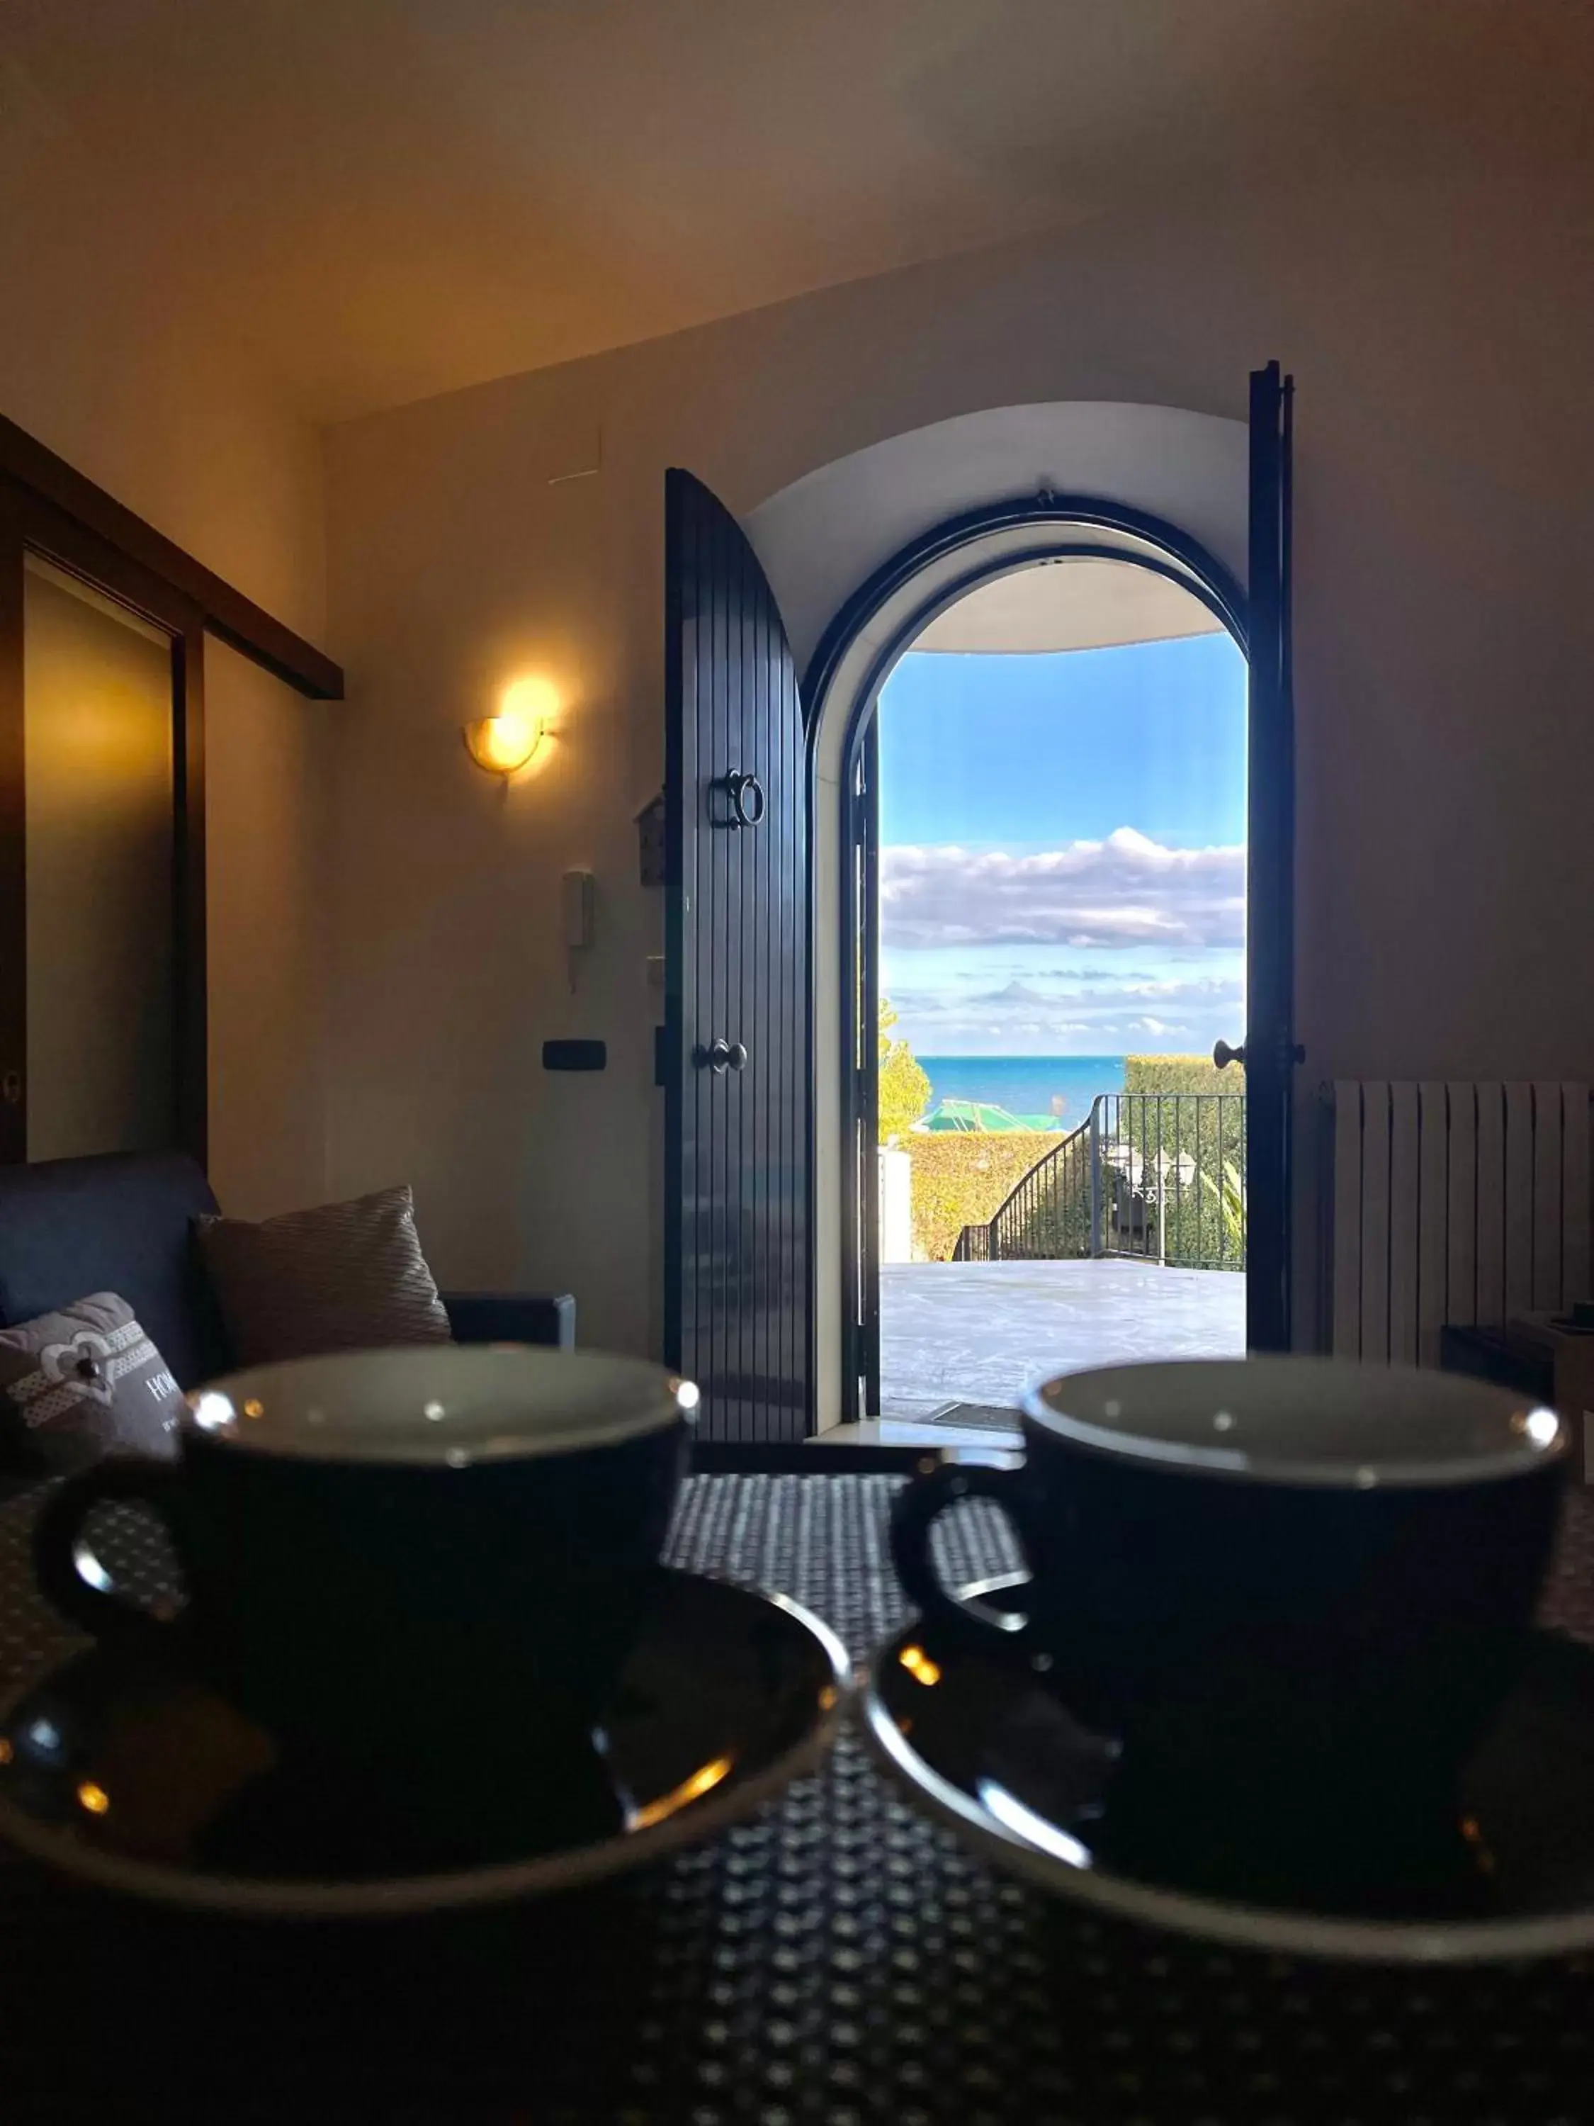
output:
[{"label": "black coffee cup on the right, in front of the open doorway", "polygon": [[[1150,1813],[1352,1837],[1445,1807],[1526,1652],[1566,1429],[1483,1382],[1333,1359],[1129,1365],[1024,1399],[1024,1463],[939,1465],[893,1556],[935,1633],[1029,1663]],[[948,1594],[931,1524],[995,1499],[1022,1616]],[[1214,1820],[1216,1820],[1214,1818]]]}]

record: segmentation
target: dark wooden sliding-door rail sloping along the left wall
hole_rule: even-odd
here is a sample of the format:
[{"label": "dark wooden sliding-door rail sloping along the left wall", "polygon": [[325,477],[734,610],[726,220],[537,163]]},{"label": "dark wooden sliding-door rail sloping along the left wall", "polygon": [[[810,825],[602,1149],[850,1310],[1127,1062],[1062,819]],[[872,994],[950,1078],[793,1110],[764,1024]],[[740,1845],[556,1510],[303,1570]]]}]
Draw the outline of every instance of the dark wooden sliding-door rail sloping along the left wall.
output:
[{"label": "dark wooden sliding-door rail sloping along the left wall", "polygon": [[266,665],[289,687],[312,702],[342,702],[342,665],[336,665],[315,642],[295,636],[274,621],[242,591],[234,591],[204,561],[196,561],[155,525],[134,517],[104,487],[74,472],[43,442],[0,415],[0,474],[9,474],[45,502],[74,517],[81,525],[117,546],[130,561],[162,576],[204,614],[204,625],[232,648]]}]

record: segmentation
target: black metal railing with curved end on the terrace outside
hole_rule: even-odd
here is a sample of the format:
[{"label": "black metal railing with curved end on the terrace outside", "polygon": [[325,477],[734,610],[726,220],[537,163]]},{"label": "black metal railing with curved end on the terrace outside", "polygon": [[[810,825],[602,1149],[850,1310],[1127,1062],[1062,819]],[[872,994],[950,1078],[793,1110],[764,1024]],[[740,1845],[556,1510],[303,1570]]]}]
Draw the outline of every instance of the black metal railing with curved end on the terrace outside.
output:
[{"label": "black metal railing with curved end on the terrace outside", "polygon": [[1099,1093],[988,1222],[963,1227],[952,1261],[1112,1254],[1245,1267],[1243,1093]]}]

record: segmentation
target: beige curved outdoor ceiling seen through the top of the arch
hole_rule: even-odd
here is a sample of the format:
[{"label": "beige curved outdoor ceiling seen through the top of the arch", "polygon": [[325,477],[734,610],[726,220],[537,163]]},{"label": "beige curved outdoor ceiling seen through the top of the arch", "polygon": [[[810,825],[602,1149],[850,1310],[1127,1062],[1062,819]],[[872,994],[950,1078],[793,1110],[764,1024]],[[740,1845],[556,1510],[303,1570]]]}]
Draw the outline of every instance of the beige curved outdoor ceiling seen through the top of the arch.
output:
[{"label": "beige curved outdoor ceiling seen through the top of the arch", "polygon": [[1048,561],[969,591],[914,638],[916,651],[1099,651],[1218,634],[1199,597],[1124,561]]}]

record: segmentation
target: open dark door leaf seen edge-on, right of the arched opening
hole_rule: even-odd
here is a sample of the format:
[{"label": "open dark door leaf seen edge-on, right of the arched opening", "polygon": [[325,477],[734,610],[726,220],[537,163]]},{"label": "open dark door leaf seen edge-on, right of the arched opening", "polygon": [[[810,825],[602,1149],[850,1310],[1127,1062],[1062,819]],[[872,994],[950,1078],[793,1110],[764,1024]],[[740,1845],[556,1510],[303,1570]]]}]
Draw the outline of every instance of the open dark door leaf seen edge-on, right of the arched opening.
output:
[{"label": "open dark door leaf seen edge-on, right of the arched opening", "polygon": [[1290,1348],[1294,1099],[1294,695],[1290,444],[1294,378],[1252,372],[1250,853],[1245,884],[1245,1342]]}]

